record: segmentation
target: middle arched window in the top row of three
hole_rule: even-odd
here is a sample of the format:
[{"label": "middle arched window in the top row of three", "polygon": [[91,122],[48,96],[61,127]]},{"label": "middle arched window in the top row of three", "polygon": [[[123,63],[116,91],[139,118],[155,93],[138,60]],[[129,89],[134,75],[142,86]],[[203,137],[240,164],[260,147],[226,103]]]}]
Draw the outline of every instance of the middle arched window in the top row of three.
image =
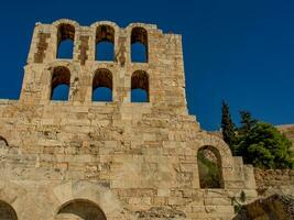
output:
[{"label": "middle arched window in the top row of three", "polygon": [[96,61],[115,59],[115,30],[109,25],[100,25],[96,31]]}]

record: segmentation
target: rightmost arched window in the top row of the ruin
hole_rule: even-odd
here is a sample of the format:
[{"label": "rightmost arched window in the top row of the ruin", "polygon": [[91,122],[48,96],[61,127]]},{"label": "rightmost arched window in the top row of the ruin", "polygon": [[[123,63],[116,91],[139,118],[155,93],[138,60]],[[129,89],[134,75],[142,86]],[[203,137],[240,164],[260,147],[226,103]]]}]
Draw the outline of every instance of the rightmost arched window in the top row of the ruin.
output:
[{"label": "rightmost arched window in the top row of the ruin", "polygon": [[132,29],[131,61],[137,63],[148,63],[148,32],[143,28]]}]

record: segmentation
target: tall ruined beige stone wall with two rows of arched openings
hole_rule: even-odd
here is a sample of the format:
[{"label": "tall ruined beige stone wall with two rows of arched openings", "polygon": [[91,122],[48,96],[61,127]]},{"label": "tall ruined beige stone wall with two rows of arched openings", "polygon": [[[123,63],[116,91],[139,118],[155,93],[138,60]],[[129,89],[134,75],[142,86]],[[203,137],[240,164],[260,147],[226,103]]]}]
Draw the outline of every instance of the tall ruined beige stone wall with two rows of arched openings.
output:
[{"label": "tall ruined beige stone wall with two rows of arched openings", "polygon": [[[56,58],[65,38],[73,59]],[[95,59],[100,40],[113,62]],[[146,63],[131,62],[134,41]],[[91,101],[95,80],[111,102]],[[70,86],[67,101],[51,100],[55,84]],[[132,88],[149,101],[131,102]],[[156,25],[36,23],[20,100],[0,101],[0,124],[1,219],[230,219],[232,197],[257,197],[252,166],[188,114],[181,35]],[[220,158],[220,188],[199,186],[204,146]]]}]

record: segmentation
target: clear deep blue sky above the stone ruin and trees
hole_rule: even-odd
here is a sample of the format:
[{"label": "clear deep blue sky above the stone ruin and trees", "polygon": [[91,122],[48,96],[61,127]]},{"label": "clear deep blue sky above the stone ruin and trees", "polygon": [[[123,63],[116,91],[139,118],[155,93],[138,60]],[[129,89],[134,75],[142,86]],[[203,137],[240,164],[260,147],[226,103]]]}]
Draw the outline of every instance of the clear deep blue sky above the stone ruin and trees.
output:
[{"label": "clear deep blue sky above the stone ruin and trees", "polygon": [[274,124],[294,123],[294,1],[3,1],[0,97],[18,99],[34,23],[61,18],[83,25],[110,20],[155,23],[183,35],[190,114],[219,129],[221,100],[236,122],[249,110]]}]

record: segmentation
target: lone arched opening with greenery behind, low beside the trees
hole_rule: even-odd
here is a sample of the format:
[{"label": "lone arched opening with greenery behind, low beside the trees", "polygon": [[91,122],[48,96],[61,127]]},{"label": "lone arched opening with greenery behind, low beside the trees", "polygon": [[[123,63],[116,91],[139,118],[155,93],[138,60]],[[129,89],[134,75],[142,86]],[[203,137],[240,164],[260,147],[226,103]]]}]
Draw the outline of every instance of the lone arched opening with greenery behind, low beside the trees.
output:
[{"label": "lone arched opening with greenery behind, low beside the trees", "polygon": [[214,146],[203,146],[197,153],[200,188],[224,188],[221,158]]}]

